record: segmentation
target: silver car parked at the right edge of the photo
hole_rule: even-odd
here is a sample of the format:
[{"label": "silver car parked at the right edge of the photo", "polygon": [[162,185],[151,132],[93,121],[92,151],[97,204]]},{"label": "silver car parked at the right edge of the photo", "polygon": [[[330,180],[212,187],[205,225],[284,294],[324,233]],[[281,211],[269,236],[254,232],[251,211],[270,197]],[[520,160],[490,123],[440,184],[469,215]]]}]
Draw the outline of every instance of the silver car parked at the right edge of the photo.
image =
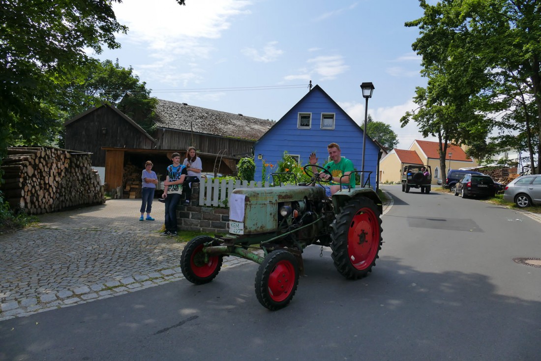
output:
[{"label": "silver car parked at the right edge of the photo", "polygon": [[505,186],[504,200],[515,202],[520,208],[541,204],[541,175],[523,175]]}]

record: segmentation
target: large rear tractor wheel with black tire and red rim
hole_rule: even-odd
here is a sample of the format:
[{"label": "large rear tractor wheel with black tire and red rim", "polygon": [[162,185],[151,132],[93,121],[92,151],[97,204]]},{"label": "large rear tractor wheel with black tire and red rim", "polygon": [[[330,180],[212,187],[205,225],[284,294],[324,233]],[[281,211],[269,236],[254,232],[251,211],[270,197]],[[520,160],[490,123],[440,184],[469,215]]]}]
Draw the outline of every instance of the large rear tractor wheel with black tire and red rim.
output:
[{"label": "large rear tractor wheel with black tire and red rim", "polygon": [[365,277],[375,266],[381,250],[378,208],[368,198],[356,198],[342,207],[336,218],[331,225],[334,266],[347,279]]}]

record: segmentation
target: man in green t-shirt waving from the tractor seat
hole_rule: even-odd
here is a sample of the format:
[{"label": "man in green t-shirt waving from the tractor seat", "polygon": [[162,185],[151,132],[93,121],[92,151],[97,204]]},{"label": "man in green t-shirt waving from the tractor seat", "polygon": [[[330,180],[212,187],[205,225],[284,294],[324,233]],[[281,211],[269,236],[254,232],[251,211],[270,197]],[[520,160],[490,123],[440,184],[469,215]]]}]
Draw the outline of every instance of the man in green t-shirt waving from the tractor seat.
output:
[{"label": "man in green t-shirt waving from the tractor seat", "polygon": [[[327,173],[320,174],[322,179],[331,181],[330,186],[323,186],[325,188],[325,194],[327,196],[331,196],[338,192],[340,187],[347,189],[348,183],[352,188],[355,188],[355,177],[348,176],[349,173],[355,170],[353,167],[353,162],[346,157],[341,156],[342,151],[337,143],[329,144],[327,146],[327,150],[329,152],[329,158],[331,158],[331,161],[328,162],[324,168],[327,169],[332,175]],[[316,158],[315,153],[310,154],[309,161],[312,165],[318,163],[318,158]],[[316,168],[312,167],[312,171],[315,173]],[[340,179],[342,175],[345,175],[345,177]]]}]

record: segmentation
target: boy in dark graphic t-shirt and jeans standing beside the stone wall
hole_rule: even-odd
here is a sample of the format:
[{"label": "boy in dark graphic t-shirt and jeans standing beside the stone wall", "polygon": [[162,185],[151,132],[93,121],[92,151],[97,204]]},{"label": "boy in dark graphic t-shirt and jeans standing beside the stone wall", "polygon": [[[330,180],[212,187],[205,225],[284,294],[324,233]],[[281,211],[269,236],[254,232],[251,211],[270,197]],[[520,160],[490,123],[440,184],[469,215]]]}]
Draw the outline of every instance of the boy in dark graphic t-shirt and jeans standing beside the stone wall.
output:
[{"label": "boy in dark graphic t-shirt and jeans standing beside the stone wall", "polygon": [[182,183],[188,174],[186,167],[180,164],[180,154],[171,154],[173,164],[167,167],[166,180],[163,182],[163,198],[166,200],[166,230],[161,235],[177,235],[176,206],[182,194]]}]

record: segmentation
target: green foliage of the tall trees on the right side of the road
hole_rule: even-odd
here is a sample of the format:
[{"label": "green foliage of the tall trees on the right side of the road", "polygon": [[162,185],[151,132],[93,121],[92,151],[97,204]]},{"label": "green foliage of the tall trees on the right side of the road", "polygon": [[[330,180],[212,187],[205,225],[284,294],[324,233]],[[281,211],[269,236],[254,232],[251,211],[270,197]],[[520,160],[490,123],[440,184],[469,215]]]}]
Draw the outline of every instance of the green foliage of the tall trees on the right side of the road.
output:
[{"label": "green foliage of the tall trees on the right side of the road", "polygon": [[[530,152],[537,144],[541,156],[541,3],[443,0],[428,5],[420,0],[420,6],[424,16],[406,23],[420,30],[413,49],[423,56],[423,75],[428,77],[427,88],[417,93],[426,102],[418,104],[451,110],[445,113],[453,114],[459,126],[444,139],[473,144],[496,126],[500,133],[509,129],[525,133]],[[520,107],[522,118],[516,112]],[[530,107],[531,112],[526,110]],[[501,112],[514,114],[499,122],[495,115]],[[414,115],[416,111],[410,112],[404,121],[417,121]],[[436,119],[440,116],[434,111],[432,122],[451,125]],[[426,124],[427,117],[423,119]],[[538,128],[535,133],[531,123]]]}]

